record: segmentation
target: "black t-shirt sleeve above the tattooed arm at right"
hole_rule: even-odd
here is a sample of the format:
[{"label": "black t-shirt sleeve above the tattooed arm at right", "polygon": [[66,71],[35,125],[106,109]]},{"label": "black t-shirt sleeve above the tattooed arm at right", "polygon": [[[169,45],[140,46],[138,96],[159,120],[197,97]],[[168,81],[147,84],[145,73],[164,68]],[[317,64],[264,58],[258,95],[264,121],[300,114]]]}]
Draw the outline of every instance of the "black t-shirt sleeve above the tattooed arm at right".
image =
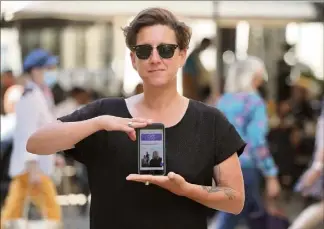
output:
[{"label": "black t-shirt sleeve above the tattooed arm at right", "polygon": [[215,117],[216,130],[216,156],[215,165],[218,165],[237,153],[240,156],[246,143],[243,141],[235,127],[220,112]]}]

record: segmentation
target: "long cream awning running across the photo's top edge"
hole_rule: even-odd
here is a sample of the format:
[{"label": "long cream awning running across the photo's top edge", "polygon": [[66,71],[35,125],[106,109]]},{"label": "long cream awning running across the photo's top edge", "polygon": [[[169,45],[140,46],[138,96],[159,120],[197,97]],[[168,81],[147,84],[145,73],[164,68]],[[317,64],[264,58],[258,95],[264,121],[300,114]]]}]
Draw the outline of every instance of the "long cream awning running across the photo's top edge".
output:
[{"label": "long cream awning running across the photo's top edge", "polygon": [[[6,2],[6,1],[2,1]],[[215,10],[222,19],[272,19],[314,21],[315,6],[309,2],[286,1],[30,1],[12,11],[12,19],[66,18],[73,20],[108,19],[111,16],[134,16],[148,7],[163,7],[182,17],[213,18]],[[215,7],[215,5],[217,7]],[[7,13],[10,13],[9,11]]]}]

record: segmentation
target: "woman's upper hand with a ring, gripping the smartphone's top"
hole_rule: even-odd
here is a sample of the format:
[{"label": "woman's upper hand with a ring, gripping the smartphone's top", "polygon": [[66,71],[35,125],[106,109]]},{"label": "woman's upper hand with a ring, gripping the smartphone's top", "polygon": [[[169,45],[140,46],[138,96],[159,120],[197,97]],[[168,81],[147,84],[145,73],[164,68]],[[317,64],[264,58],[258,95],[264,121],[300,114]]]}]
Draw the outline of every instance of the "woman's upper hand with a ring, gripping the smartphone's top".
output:
[{"label": "woman's upper hand with a ring, gripping the smartphone's top", "polygon": [[136,140],[136,128],[143,128],[152,123],[150,119],[121,118],[111,115],[97,117],[100,130],[125,132],[133,141]]}]

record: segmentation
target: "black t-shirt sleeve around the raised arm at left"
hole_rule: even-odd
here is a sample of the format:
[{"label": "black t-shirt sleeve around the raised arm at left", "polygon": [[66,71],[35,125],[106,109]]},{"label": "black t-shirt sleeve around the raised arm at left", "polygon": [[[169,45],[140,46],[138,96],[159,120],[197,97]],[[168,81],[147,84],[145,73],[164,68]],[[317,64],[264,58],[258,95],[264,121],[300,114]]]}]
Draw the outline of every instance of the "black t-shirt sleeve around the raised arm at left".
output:
[{"label": "black t-shirt sleeve around the raised arm at left", "polygon": [[[58,118],[58,120],[62,122],[79,122],[97,117],[99,116],[100,105],[101,100],[97,100],[69,115]],[[95,154],[95,147],[98,145],[97,134],[98,132],[84,138],[78,142],[74,148],[65,150],[64,154],[67,157],[72,157],[85,165],[89,164],[93,158],[93,155]]]}]

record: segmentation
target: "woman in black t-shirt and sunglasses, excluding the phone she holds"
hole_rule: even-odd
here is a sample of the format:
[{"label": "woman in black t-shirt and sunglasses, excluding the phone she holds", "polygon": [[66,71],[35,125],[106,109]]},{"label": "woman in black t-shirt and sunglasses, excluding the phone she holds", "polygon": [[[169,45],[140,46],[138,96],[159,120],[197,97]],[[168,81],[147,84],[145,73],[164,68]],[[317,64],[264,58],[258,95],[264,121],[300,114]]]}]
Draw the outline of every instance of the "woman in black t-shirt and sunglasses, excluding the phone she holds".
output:
[{"label": "woman in black t-shirt and sunglasses, excluding the phone she holds", "polygon": [[[85,164],[93,229],[206,229],[208,208],[238,214],[245,143],[217,109],[177,92],[190,29],[168,10],[149,8],[124,34],[144,93],[101,99],[59,118],[31,136],[28,151],[64,150]],[[166,176],[136,174],[135,129],[151,122],[166,127]],[[211,187],[213,174],[219,187]]]}]

